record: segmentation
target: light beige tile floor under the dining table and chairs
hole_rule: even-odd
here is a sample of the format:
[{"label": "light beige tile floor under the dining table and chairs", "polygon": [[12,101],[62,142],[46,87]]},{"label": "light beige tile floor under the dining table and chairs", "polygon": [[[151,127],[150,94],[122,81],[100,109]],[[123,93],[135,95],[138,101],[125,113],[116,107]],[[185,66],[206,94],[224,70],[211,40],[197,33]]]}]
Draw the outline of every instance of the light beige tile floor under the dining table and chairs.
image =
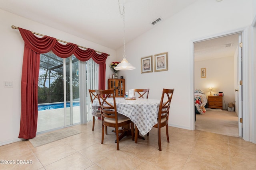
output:
[{"label": "light beige tile floor under the dining table and chairs", "polygon": [[[101,121],[68,127],[81,131],[34,148],[27,141],[0,147],[0,169],[28,170],[255,170],[256,144],[237,137],[169,127],[170,143],[162,128],[162,151],[156,128],[146,140],[124,137],[116,150],[115,134],[108,128],[101,144]],[[44,134],[40,134],[44,135]],[[22,161],[20,161],[22,160]],[[24,164],[32,161],[32,164]],[[27,162],[28,161],[28,162]],[[1,162],[2,163],[2,162]]]}]

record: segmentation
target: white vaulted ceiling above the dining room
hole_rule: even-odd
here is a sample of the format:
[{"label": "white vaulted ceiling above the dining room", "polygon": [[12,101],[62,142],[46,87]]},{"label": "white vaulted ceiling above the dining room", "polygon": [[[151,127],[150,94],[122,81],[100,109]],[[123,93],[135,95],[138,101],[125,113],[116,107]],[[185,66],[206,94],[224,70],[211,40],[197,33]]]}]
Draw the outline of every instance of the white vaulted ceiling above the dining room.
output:
[{"label": "white vaulted ceiling above the dining room", "polygon": [[[123,45],[124,35],[125,42],[128,43],[196,1],[120,0],[121,11],[123,4],[125,6],[125,29],[123,29],[123,19],[120,15],[118,0],[0,0],[0,9],[99,45],[118,49]],[[216,1],[216,3],[220,2]],[[161,18],[162,21],[152,25],[152,22],[158,18]],[[20,25],[15,26],[19,27]],[[26,27],[23,28],[26,29]],[[37,32],[36,30],[31,31]],[[210,44],[214,45],[214,43],[212,41]],[[204,56],[220,56],[216,53],[225,43],[235,45],[231,39],[225,42],[216,41],[216,43],[218,43],[218,47],[209,47],[209,44],[198,43],[204,49],[195,47],[195,52]],[[207,53],[209,50],[215,52]],[[234,53],[228,52],[227,49],[222,49],[222,52],[223,50],[226,50],[226,53]]]}]

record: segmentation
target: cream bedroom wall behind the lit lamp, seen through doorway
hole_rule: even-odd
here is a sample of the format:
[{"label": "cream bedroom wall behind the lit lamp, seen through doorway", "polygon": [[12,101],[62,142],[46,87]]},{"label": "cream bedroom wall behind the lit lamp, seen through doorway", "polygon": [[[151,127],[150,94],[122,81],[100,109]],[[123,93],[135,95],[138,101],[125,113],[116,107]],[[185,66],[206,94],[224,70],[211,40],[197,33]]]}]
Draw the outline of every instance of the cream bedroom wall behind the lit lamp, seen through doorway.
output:
[{"label": "cream bedroom wall behind the lit lamp, seen through doorway", "polygon": [[[201,68],[206,68],[206,78],[201,78]],[[223,92],[222,108],[227,109],[234,96],[234,57],[224,57],[194,62],[195,88],[204,90],[210,96],[209,88],[214,93]]]}]

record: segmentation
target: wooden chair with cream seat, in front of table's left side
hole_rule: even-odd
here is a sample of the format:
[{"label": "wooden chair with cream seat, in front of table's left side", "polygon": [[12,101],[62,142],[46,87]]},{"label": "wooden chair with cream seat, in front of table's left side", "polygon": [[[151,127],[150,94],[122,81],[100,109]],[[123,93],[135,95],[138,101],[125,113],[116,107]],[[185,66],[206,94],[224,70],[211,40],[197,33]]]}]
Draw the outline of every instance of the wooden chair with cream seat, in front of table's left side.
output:
[{"label": "wooden chair with cream seat, in front of table's left side", "polygon": [[[130,125],[134,129],[134,123],[130,120],[129,117],[122,115],[116,111],[116,98],[114,95],[114,89],[111,90],[95,90],[98,96],[100,104],[100,112],[102,118],[102,139],[101,143],[104,141],[104,127],[114,127],[116,132],[116,150],[119,150],[119,127],[124,125]],[[107,101],[107,99],[112,96],[113,104]],[[128,131],[128,129],[122,129],[123,133]],[[132,139],[134,139],[134,131],[131,131]],[[122,134],[120,135],[122,136]]]}]

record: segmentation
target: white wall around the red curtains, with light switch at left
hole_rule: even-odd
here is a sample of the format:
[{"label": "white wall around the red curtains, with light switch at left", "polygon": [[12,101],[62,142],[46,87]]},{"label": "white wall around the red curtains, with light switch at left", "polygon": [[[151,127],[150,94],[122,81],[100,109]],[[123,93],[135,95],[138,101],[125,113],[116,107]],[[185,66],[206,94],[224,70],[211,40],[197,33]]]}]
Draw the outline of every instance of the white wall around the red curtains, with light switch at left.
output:
[{"label": "white wall around the red curtains, with light switch at left", "polygon": [[[24,41],[20,35],[20,32],[17,29],[12,29],[11,25],[110,54],[110,57],[108,57],[106,61],[106,75],[109,75],[110,73],[112,74],[112,71],[108,69],[108,65],[112,62],[113,59],[115,60],[116,51],[92,43],[90,41],[86,41],[79,37],[64,33],[62,31],[58,31],[51,27],[36,23],[34,21],[27,20],[3,10],[0,10],[0,21],[0,84],[2,84],[0,86],[1,146],[7,143],[18,141],[20,130],[20,82]],[[4,81],[12,81],[13,88],[4,88]]]}]

